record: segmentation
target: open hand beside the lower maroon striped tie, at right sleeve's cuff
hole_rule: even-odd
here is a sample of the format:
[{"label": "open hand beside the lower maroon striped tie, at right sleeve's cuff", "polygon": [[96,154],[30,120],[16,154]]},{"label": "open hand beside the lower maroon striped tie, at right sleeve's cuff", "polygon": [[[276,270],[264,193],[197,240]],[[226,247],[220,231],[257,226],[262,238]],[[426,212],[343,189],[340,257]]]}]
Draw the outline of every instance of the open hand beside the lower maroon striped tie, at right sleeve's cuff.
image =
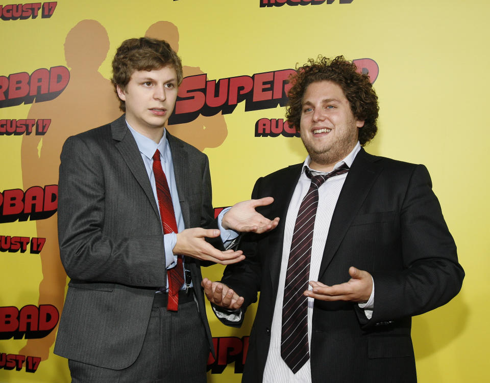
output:
[{"label": "open hand beside the lower maroon striped tie, at right sleeve's cuff", "polygon": [[349,275],[351,279],[348,282],[333,286],[310,281],[313,290],[306,290],[303,295],[320,300],[351,300],[366,303],[373,290],[371,274],[352,266],[349,268]]}]

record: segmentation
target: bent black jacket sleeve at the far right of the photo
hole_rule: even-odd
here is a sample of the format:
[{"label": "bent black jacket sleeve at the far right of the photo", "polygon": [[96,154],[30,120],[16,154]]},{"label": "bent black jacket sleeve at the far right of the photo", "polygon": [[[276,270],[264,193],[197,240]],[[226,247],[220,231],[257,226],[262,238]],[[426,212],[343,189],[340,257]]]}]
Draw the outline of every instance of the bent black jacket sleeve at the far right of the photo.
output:
[{"label": "bent black jacket sleeve at the far right of the photo", "polygon": [[412,172],[401,205],[400,235],[403,269],[372,272],[373,317],[361,320],[367,326],[425,313],[449,302],[461,288],[464,271],[456,245],[422,165]]}]

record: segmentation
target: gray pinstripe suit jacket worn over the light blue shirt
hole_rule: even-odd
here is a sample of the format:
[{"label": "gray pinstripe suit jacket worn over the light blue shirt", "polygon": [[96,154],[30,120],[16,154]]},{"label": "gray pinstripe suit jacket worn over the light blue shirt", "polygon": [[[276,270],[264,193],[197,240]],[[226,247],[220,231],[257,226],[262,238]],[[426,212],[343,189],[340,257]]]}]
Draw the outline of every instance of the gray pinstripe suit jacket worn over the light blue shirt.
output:
[{"label": "gray pinstripe suit jacket worn over the light blue shirt", "polygon": [[[215,225],[206,155],[168,132],[167,139],[185,227]],[[158,206],[125,116],[66,140],[58,235],[71,280],[54,352],[95,366],[128,367],[143,344],[166,271]],[[200,262],[186,258],[186,265],[212,349]]]}]

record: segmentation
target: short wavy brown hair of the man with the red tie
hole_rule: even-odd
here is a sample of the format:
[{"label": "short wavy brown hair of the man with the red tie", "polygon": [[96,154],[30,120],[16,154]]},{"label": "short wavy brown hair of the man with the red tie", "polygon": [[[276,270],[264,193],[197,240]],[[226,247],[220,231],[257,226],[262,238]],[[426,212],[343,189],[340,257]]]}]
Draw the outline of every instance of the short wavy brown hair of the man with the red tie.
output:
[{"label": "short wavy brown hair of the man with the red tie", "polygon": [[165,40],[140,37],[128,39],[117,48],[112,60],[111,82],[119,100],[119,109],[126,112],[126,103],[117,96],[117,86],[125,90],[131,75],[138,70],[155,70],[171,66],[177,73],[177,84],[182,83],[182,62]]}]

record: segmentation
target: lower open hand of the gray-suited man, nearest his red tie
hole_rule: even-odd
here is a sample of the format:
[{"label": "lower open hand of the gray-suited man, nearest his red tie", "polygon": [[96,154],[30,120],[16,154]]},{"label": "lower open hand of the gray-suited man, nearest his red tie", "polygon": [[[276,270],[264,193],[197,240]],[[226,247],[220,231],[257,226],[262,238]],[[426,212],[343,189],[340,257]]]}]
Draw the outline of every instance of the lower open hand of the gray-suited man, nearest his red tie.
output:
[{"label": "lower open hand of the gray-suited man, nearest his red tie", "polygon": [[215,238],[219,235],[217,229],[192,228],[177,233],[174,254],[182,254],[203,261],[212,261],[222,265],[240,262],[245,259],[242,251],[219,251],[204,240],[205,237]]}]

